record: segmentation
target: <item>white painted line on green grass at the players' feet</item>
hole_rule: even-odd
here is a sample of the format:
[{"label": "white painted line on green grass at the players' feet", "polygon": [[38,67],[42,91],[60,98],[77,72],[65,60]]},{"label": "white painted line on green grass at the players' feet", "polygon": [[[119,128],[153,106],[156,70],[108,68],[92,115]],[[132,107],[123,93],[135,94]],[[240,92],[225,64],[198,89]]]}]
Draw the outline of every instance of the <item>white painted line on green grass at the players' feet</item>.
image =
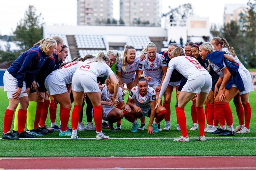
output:
[{"label": "white painted line on green grass at the players' feet", "polygon": [[[176,139],[177,137],[111,137],[110,139]],[[2,138],[0,138],[2,139]],[[20,139],[30,139],[30,140],[50,140],[50,139],[59,139],[59,140],[67,140],[71,138],[61,138],[61,137],[35,137],[35,138],[20,138]],[[96,140],[95,137],[81,137],[78,139],[83,140]],[[190,137],[189,139],[197,139],[197,137]],[[206,137],[206,139],[256,139],[256,137]]]}]

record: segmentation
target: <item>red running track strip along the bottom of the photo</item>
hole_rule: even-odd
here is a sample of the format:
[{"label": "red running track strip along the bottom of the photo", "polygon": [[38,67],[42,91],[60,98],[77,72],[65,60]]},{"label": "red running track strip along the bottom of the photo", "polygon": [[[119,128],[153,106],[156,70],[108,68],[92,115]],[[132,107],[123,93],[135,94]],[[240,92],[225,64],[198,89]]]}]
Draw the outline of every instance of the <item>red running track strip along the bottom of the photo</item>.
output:
[{"label": "red running track strip along the bottom of the photo", "polygon": [[256,169],[256,156],[0,157],[0,169]]}]

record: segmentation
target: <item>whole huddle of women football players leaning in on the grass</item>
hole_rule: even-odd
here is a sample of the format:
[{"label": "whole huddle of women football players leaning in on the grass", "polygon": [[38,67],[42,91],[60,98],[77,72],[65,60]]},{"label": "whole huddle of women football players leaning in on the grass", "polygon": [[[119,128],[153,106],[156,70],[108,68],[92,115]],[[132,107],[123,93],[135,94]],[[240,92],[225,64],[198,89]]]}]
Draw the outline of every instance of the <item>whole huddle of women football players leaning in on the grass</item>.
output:
[{"label": "whole huddle of women football players leaning in on the grass", "polygon": [[[176,90],[176,99],[172,100],[176,100],[177,130],[182,134],[174,141],[189,142],[184,108],[190,100],[193,121],[190,130],[199,129],[197,140],[205,141],[205,132],[220,136],[250,132],[252,78],[225,39],[188,42],[184,49],[171,43],[167,51],[160,52],[154,43],[149,43],[140,56],[136,56],[132,45],[124,47],[122,57],[120,52],[109,50],[107,54],[88,54],[63,62],[67,56],[68,47],[60,37],[54,36],[34,44],[6,70],[4,91],[9,105],[2,139],[33,138],[53,131],[60,131],[60,137],[78,139],[77,131],[85,130],[96,131],[96,139],[109,139],[102,128],[112,132],[121,130],[124,118],[131,122],[132,132],[145,130],[146,116],[148,133],[162,131],[163,119],[163,130],[170,130],[173,89]],[[127,93],[128,100],[124,101]],[[235,129],[229,106],[232,99],[239,120]],[[87,124],[84,126],[85,102]],[[57,104],[60,126],[56,123]],[[45,125],[48,109],[50,127]]]}]

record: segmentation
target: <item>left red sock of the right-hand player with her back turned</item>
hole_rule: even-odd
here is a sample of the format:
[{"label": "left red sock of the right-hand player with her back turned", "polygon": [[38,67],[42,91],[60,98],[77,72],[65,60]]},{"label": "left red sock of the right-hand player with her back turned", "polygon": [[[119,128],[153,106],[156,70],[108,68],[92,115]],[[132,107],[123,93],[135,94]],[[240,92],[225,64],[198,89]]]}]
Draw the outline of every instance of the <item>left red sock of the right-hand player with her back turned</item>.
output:
[{"label": "left red sock of the right-hand player with her back turned", "polygon": [[181,107],[175,107],[176,109],[176,115],[177,115],[177,121],[181,128],[181,134],[183,137],[187,137],[187,124],[186,124],[186,116],[184,112],[184,108]]}]

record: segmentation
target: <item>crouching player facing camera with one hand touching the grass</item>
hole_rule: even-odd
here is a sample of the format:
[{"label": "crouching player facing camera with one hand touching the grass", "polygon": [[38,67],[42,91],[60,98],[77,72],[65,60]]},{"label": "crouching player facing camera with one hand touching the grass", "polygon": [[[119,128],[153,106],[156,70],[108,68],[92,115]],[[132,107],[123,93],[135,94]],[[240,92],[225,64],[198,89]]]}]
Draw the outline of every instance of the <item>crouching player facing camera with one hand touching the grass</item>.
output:
[{"label": "crouching player facing camera with one hand touching the grass", "polygon": [[[127,105],[131,107],[131,112],[124,111],[125,119],[133,123],[132,132],[136,132],[139,126],[136,119],[141,119],[145,116],[150,117],[148,133],[158,132],[157,124],[164,119],[166,109],[163,106],[158,106],[155,109],[156,99],[155,90],[152,87],[148,87],[148,81],[144,77],[140,77],[138,86],[132,88],[127,100]],[[156,117],[155,120],[154,117]]]}]

